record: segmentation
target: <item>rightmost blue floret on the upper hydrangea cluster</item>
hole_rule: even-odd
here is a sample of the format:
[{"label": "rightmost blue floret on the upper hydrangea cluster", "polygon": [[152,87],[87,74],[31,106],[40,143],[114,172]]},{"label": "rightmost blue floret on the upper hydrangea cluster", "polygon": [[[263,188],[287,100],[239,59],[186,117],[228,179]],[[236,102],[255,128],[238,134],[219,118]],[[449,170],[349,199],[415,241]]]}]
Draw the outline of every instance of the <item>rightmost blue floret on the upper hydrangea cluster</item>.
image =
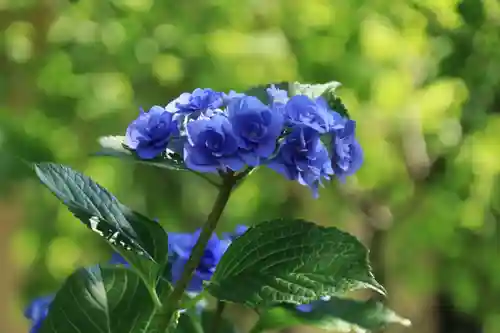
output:
[{"label": "rightmost blue floret on the upper hydrangea cluster", "polygon": [[347,120],[343,127],[331,131],[332,167],[341,181],[353,175],[363,164],[363,150],[356,141],[355,132],[356,122],[353,120]]}]

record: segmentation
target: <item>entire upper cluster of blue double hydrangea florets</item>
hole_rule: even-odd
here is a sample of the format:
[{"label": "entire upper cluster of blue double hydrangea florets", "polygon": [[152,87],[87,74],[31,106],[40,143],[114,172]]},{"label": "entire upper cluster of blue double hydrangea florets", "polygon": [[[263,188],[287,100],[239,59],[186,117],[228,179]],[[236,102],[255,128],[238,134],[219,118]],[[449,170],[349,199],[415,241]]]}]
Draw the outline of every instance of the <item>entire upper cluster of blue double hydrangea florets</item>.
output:
[{"label": "entire upper cluster of blue double hydrangea florets", "polygon": [[197,172],[266,165],[310,187],[315,197],[322,180],[344,180],[359,169],[363,152],[353,120],[323,97],[289,97],[274,85],[267,95],[269,104],[234,91],[183,93],[165,107],[141,111],[127,128],[125,144],[141,159],[173,150]]}]

